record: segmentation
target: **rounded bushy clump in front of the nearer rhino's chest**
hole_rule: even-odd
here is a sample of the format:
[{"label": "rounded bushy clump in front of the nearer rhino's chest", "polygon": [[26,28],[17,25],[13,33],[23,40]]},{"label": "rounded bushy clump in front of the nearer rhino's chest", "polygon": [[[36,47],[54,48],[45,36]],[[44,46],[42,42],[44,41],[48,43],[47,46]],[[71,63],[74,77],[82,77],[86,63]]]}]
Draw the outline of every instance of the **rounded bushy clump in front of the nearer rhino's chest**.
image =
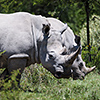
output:
[{"label": "rounded bushy clump in front of the nearer rhino's chest", "polygon": [[41,64],[35,64],[24,70],[21,77],[21,86],[27,90],[31,89],[35,92],[42,92],[42,85],[45,84],[46,86],[51,86],[55,79],[56,78],[54,78],[53,75],[46,69],[44,69]]}]

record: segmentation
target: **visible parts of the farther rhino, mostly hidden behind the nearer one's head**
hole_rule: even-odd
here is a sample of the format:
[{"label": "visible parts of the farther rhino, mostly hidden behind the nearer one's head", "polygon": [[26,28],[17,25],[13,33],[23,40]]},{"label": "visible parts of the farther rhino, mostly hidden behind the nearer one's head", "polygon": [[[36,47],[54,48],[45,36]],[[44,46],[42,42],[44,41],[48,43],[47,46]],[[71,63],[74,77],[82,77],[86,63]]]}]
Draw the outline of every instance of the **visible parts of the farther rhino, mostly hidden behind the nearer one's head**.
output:
[{"label": "visible parts of the farther rhino, mostly hidden behind the nearer one's head", "polygon": [[[51,24],[51,27],[59,29],[60,27],[64,26],[64,23],[55,19],[55,18],[47,18]],[[74,52],[78,47],[81,48],[78,56],[74,60],[73,64],[70,67],[64,67],[64,74],[62,73],[62,77],[73,79],[84,79],[85,75],[90,73],[95,69],[94,67],[87,68],[85,66],[85,62],[82,60],[81,51],[82,46],[80,42],[80,37],[74,35],[73,31],[68,27],[64,33],[62,34],[62,44],[66,47],[66,54],[71,54]],[[65,65],[66,66],[66,65]],[[59,73],[61,74],[61,73]]]}]

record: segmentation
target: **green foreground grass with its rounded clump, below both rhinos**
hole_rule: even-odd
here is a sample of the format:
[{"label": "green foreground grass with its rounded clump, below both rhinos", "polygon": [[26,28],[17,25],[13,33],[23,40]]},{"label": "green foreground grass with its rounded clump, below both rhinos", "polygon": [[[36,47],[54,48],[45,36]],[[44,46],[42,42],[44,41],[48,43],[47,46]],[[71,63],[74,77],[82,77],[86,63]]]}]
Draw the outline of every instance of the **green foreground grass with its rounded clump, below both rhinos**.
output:
[{"label": "green foreground grass with its rounded clump, below both rhinos", "polygon": [[21,78],[22,90],[0,91],[0,100],[100,100],[100,75],[88,74],[83,81],[56,79],[43,67],[26,68]]}]

